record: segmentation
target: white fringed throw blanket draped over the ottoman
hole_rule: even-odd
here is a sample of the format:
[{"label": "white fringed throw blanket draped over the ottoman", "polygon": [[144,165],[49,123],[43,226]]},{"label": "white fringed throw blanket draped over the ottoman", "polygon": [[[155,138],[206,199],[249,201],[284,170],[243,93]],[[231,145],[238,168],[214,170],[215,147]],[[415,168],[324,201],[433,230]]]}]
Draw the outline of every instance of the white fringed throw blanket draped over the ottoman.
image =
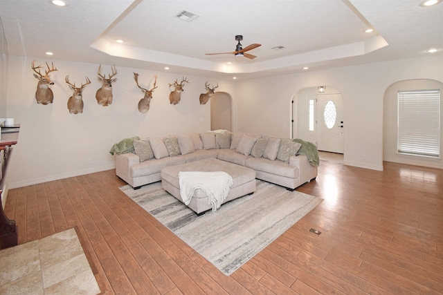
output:
[{"label": "white fringed throw blanket draped over the ottoman", "polygon": [[217,211],[228,196],[233,178],[226,172],[180,171],[179,184],[181,200],[188,205],[196,189],[201,189],[208,196],[208,204]]}]

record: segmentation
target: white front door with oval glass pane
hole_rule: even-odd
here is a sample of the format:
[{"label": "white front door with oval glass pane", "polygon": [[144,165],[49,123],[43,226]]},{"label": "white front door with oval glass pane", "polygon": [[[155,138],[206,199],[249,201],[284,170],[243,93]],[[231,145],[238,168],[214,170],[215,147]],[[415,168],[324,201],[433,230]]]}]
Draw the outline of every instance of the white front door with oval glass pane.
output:
[{"label": "white front door with oval glass pane", "polygon": [[343,130],[341,94],[317,95],[318,151],[343,153]]}]

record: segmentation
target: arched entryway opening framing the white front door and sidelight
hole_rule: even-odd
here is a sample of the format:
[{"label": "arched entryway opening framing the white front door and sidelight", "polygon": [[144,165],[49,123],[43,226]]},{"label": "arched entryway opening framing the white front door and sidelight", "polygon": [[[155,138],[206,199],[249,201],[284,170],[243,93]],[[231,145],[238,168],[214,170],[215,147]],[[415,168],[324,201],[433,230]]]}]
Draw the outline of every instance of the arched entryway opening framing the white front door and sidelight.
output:
[{"label": "arched entryway opening framing the white front door and sidelight", "polygon": [[344,153],[344,105],[341,93],[326,86],[319,93],[318,87],[298,91],[292,97],[293,138],[301,138],[316,144],[318,151]]}]

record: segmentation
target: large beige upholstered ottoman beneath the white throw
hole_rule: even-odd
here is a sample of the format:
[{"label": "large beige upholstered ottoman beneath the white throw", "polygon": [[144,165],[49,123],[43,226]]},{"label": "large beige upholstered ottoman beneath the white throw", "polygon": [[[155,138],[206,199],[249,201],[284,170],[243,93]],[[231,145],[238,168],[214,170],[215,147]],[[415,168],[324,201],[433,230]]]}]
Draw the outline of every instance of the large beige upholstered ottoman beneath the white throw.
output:
[{"label": "large beige upholstered ottoman beneath the white throw", "polygon": [[[178,200],[181,200],[179,184],[180,171],[224,171],[228,173],[233,178],[233,186],[230,188],[224,202],[251,194],[256,189],[255,171],[253,169],[217,159],[206,159],[161,169],[161,186]],[[183,200],[181,200],[181,202],[183,202]],[[195,190],[188,207],[197,214],[212,209],[212,205],[208,203],[206,193],[201,189]]]}]

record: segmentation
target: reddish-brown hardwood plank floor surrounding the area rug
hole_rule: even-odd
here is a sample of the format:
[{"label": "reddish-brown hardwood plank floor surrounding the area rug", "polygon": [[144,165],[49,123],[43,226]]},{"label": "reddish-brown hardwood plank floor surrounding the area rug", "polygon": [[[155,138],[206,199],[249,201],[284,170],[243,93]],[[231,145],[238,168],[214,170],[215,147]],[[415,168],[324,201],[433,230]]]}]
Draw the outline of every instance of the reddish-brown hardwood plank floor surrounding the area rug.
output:
[{"label": "reddish-brown hardwood plank floor surrounding the area rug", "polygon": [[127,198],[114,170],[11,189],[6,213],[20,244],[75,227],[103,294],[443,294],[443,171],[383,164],[321,161],[297,190],[324,201],[231,276]]}]

